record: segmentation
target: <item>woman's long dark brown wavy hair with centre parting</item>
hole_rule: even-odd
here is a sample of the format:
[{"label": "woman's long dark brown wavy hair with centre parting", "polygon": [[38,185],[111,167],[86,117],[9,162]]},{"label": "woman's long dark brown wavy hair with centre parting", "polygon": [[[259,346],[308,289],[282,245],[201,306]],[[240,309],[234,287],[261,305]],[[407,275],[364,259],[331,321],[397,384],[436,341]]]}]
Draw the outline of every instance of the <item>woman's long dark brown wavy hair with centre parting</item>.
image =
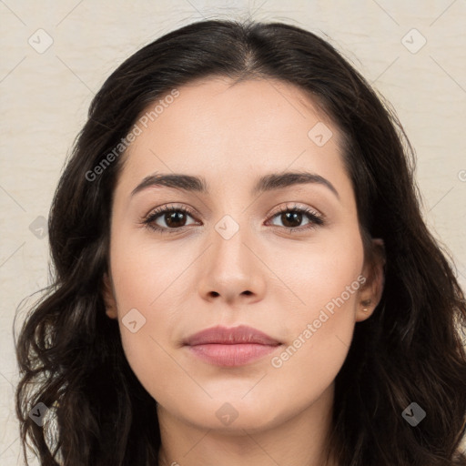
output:
[{"label": "woman's long dark brown wavy hair with centre parting", "polygon": [[[157,464],[157,402],[130,369],[102,296],[122,157],[93,181],[86,174],[149,104],[218,76],[278,79],[307,93],[344,137],[365,247],[370,238],[385,243],[380,303],[356,324],[335,380],[330,443],[339,464],[466,465],[466,301],[450,254],[421,218],[414,151],[395,112],[318,35],[233,20],[199,21],[144,46],[92,101],[50,211],[54,280],[15,340],[24,452],[46,466]],[[416,427],[401,415],[413,401],[426,412]],[[43,426],[30,416],[40,402],[49,409]]]}]

